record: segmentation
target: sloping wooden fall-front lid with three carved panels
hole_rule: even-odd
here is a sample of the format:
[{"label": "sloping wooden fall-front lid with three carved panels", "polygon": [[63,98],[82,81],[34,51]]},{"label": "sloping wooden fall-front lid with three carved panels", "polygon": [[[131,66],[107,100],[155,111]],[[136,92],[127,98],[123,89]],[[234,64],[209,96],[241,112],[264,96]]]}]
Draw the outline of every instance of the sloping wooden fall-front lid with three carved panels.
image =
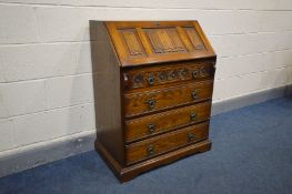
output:
[{"label": "sloping wooden fall-front lid with three carved panels", "polygon": [[198,21],[105,21],[121,67],[215,57]]}]

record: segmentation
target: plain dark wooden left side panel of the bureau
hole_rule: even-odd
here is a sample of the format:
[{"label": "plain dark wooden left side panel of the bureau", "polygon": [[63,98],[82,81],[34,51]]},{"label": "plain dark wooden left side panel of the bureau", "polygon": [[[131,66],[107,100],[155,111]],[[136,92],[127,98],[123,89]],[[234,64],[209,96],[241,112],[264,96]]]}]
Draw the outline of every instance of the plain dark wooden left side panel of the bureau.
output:
[{"label": "plain dark wooden left side panel of the bureau", "polygon": [[124,163],[121,121],[120,65],[103,22],[90,21],[97,141],[121,165]]}]

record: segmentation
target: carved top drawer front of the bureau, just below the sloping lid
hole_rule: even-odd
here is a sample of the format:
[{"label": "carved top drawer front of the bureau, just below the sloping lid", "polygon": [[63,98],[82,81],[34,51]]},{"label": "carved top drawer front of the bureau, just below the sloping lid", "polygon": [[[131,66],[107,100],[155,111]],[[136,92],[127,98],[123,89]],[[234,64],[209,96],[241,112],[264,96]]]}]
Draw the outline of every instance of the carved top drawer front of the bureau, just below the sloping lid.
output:
[{"label": "carved top drawer front of the bureau, just below the sloping lid", "polygon": [[214,76],[214,62],[180,62],[154,68],[140,68],[123,71],[124,90],[142,89],[174,82]]}]

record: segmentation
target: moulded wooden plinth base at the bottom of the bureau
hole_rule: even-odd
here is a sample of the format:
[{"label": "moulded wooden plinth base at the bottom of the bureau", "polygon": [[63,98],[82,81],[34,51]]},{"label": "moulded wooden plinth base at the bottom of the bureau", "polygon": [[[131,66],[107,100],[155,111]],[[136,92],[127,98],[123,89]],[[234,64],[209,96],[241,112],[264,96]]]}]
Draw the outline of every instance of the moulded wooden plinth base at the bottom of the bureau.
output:
[{"label": "moulded wooden plinth base at the bottom of the bureau", "polygon": [[160,165],[171,163],[173,161],[177,161],[181,157],[194,153],[202,153],[209,151],[211,149],[211,144],[212,143],[210,141],[203,141],[193,145],[182,147],[180,150],[175,150],[168,154],[160,155],[154,159],[125,167],[121,166],[99,141],[95,141],[95,150],[100,153],[102,159],[105,161],[108,166],[113,171],[113,173],[120,180],[120,182],[123,183],[134,178],[142,172],[149,171]]}]

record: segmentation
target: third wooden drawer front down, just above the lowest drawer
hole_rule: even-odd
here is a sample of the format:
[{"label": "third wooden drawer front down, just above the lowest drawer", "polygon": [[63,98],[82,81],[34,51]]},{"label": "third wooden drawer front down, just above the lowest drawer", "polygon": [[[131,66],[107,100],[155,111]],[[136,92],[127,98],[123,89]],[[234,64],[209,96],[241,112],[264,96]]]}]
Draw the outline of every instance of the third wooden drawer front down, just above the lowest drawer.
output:
[{"label": "third wooden drawer front down, just above the lowest drawer", "polygon": [[211,102],[203,102],[187,108],[151,114],[125,121],[125,141],[131,142],[149,137],[175,127],[185,126],[210,118]]}]

